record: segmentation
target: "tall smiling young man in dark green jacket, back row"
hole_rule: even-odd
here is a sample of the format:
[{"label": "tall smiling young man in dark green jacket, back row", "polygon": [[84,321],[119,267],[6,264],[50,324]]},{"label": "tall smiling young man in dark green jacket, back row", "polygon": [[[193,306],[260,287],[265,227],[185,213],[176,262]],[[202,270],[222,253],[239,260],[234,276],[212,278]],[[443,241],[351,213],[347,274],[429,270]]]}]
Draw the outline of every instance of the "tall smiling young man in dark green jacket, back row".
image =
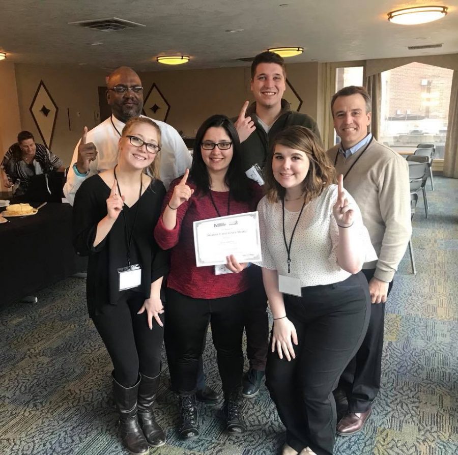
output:
[{"label": "tall smiling young man in dark green jacket, back row", "polygon": [[[283,99],[286,90],[284,60],[274,52],[262,52],[251,64],[251,92],[254,102],[243,105],[239,117],[234,119],[242,143],[244,170],[254,164],[264,167],[273,137],[290,125],[305,126],[320,139],[317,122],[302,112],[291,110]],[[245,331],[247,357],[250,368],[243,377],[243,396],[251,398],[259,392],[267,360],[269,323],[267,296],[262,283],[261,269],[250,267],[252,296],[247,302]]]}]

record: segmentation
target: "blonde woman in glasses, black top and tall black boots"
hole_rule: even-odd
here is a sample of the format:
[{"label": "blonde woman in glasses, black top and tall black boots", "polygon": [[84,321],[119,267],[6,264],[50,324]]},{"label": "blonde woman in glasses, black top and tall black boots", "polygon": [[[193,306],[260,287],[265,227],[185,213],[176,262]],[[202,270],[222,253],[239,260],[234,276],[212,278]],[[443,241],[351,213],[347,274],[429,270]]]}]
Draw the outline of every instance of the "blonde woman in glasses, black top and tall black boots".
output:
[{"label": "blonde woman in glasses, black top and tall black boots", "polygon": [[79,254],[89,254],[89,316],[113,362],[121,437],[138,454],[165,444],[152,410],[161,373],[160,292],[168,271],[168,254],[153,238],[165,195],[155,159],[160,139],[151,119],[130,119],[118,164],[85,180],[73,206],[73,243]]}]

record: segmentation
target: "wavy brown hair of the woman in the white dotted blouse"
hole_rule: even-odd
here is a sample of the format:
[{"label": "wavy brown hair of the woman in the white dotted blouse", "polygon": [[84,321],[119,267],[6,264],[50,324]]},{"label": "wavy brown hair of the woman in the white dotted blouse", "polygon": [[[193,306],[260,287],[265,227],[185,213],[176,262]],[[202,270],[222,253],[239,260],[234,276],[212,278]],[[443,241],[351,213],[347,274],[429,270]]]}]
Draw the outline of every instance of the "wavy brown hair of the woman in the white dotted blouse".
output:
[{"label": "wavy brown hair of the woman in the white dotted blouse", "polygon": [[305,203],[318,197],[323,188],[335,183],[334,166],[318,137],[304,126],[289,126],[274,137],[264,167],[265,188],[270,202],[278,202],[285,195],[285,189],[275,180],[272,172],[272,159],[277,144],[304,152],[310,161],[308,173],[302,182]]}]

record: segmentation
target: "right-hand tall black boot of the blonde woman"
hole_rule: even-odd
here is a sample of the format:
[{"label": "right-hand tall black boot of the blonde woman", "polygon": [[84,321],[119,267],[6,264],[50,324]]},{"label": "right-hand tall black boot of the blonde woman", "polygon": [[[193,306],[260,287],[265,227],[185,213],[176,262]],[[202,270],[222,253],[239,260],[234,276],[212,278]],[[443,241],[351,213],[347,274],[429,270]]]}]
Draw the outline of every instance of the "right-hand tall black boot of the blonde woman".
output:
[{"label": "right-hand tall black boot of the blonde woman", "polygon": [[138,423],[148,444],[152,447],[160,447],[165,444],[165,434],[156,423],[153,414],[153,404],[156,401],[160,378],[160,373],[155,378],[141,375],[138,388]]}]

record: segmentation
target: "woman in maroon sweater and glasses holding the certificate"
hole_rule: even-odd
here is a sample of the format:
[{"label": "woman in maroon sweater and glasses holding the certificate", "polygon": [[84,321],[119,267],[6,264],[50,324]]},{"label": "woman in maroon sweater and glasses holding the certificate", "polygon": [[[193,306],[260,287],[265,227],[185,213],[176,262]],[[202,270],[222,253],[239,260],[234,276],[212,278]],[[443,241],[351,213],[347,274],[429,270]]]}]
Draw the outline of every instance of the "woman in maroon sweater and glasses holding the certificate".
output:
[{"label": "woman in maroon sweater and glasses holding the certificate", "polygon": [[[243,172],[240,141],[225,116],[207,119],[196,135],[192,167],[176,179],[164,198],[164,211],[155,229],[163,249],[171,248],[165,310],[165,347],[172,381],[179,390],[180,435],[199,435],[195,390],[197,365],[210,321],[217,352],[226,430],[245,431],[238,404],[243,369],[243,306],[248,290],[246,267],[227,258],[232,272],[215,275],[215,267],[196,267],[193,222],[252,212],[260,187]],[[256,188],[257,186],[257,188]]]}]

